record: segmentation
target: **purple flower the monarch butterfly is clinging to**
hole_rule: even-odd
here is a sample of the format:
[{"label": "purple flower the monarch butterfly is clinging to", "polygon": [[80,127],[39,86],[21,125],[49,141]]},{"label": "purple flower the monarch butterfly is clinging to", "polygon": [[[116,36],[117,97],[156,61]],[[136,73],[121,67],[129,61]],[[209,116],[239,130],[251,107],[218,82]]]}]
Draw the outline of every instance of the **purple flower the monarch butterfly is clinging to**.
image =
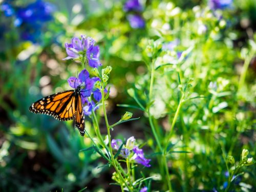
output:
[{"label": "purple flower the monarch butterfly is clinging to", "polygon": [[86,97],[91,96],[94,81],[90,78],[89,72],[86,69],[83,69],[78,75],[78,79],[76,77],[70,77],[68,79],[68,83],[72,88],[77,88],[79,85],[83,84],[84,88],[80,90],[82,103],[86,102]]}]

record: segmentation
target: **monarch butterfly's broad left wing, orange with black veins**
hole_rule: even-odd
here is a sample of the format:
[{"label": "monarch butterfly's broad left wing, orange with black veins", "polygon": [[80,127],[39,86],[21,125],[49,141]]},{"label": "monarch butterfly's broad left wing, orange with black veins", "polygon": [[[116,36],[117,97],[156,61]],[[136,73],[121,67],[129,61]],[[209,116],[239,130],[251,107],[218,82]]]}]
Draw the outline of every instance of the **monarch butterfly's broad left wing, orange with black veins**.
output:
[{"label": "monarch butterfly's broad left wing, orange with black veins", "polygon": [[68,121],[75,118],[76,100],[74,90],[61,91],[38,100],[29,110],[33,113],[51,115],[59,121]]}]

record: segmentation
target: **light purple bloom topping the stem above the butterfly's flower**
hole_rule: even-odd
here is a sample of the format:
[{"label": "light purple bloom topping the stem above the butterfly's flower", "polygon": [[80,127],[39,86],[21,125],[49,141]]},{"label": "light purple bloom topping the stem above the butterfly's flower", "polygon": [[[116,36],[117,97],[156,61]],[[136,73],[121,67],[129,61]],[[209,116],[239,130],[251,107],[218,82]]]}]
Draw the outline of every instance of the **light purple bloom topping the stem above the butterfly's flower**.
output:
[{"label": "light purple bloom topping the stem above the butterfly's flower", "polygon": [[85,35],[81,35],[81,40],[77,37],[72,38],[71,43],[66,43],[66,51],[68,57],[67,59],[82,59],[82,57],[86,57],[86,62],[91,67],[96,67],[102,65],[99,61],[99,46],[94,45],[95,41],[91,37],[86,37]]}]

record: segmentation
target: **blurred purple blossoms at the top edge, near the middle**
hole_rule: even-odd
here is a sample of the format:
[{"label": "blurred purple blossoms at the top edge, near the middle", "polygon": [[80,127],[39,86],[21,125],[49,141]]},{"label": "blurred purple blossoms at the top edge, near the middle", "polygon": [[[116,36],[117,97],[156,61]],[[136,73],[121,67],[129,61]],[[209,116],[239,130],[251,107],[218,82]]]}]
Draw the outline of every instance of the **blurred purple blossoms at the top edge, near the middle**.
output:
[{"label": "blurred purple blossoms at the top edge, near the middle", "polygon": [[143,8],[139,0],[127,0],[123,6],[125,12],[133,12],[127,15],[127,20],[133,29],[140,29],[145,27],[145,21],[139,14]]}]

